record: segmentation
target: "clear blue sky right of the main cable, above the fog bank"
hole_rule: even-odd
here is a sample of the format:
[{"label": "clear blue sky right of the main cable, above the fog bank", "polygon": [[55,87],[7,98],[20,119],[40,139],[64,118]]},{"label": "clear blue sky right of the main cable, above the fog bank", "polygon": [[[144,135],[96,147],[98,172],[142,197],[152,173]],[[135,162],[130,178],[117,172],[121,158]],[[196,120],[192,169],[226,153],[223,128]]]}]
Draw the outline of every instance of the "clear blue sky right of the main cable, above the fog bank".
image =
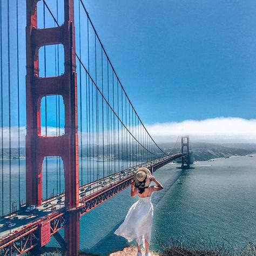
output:
[{"label": "clear blue sky right of the main cable, above the fog bank", "polygon": [[145,123],[255,118],[254,1],[85,3]]}]

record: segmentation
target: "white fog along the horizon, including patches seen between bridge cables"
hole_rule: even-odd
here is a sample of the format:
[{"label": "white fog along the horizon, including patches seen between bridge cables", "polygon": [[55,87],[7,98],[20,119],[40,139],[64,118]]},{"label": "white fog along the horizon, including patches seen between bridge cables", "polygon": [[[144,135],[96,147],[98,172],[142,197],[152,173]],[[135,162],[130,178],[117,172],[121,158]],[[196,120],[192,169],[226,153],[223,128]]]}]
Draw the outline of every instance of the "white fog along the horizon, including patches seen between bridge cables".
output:
[{"label": "white fog along the horizon, including patches seen between bridge cables", "polygon": [[[156,123],[145,125],[157,143],[175,142],[178,136],[189,135],[193,142],[217,143],[256,143],[256,119],[243,119],[234,117],[217,117],[205,120],[184,120],[183,122]],[[136,127],[133,129],[136,130]],[[20,144],[25,146],[25,126],[20,127]],[[60,134],[64,132],[60,129]],[[45,133],[42,127],[42,134]],[[48,127],[48,135],[55,136],[56,128]],[[116,137],[118,133],[116,131]],[[0,131],[1,137],[1,131]],[[104,132],[107,137],[107,131]],[[86,144],[87,133],[83,132],[83,144]],[[102,133],[99,134],[99,144],[102,143]],[[0,138],[1,143],[2,138]],[[3,127],[4,147],[9,147],[9,128]],[[96,134],[91,143],[97,143]],[[105,142],[106,143],[106,142]],[[1,146],[1,145],[0,145]],[[18,127],[11,127],[11,147],[18,146]]]}]

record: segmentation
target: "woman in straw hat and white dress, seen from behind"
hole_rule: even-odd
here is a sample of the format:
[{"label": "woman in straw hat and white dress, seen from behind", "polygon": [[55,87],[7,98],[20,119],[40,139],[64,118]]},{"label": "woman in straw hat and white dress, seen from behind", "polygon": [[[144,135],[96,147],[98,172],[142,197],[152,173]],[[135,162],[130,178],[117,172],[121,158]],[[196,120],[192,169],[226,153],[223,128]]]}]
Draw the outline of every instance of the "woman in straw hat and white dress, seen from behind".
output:
[{"label": "woman in straw hat and white dress, seen from behind", "polygon": [[[149,186],[151,181],[154,181],[157,186]],[[126,238],[129,242],[136,239],[137,256],[142,256],[141,245],[145,248],[145,256],[150,256],[149,246],[153,222],[151,194],[163,188],[156,178],[151,175],[149,169],[140,167],[134,173],[131,182],[131,196],[135,197],[138,194],[139,200],[130,207],[123,224],[114,231],[114,234]]]}]

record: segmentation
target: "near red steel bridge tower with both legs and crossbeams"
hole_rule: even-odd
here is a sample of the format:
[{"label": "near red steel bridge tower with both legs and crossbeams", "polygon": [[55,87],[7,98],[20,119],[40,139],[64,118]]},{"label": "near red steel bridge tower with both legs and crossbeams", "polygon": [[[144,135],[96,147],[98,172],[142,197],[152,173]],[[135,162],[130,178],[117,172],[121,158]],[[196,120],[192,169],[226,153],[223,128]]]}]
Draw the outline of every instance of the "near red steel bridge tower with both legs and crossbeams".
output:
[{"label": "near red steel bridge tower with both legs and crossbeams", "polygon": [[[69,211],[65,228],[68,254],[79,252],[77,79],[73,0],[64,0],[64,24],[37,29],[38,0],[27,0],[26,26],[26,204],[42,204],[42,163],[46,156],[60,156],[64,164],[65,206]],[[63,44],[64,75],[39,78],[38,50],[43,45]],[[65,106],[65,134],[41,135],[41,100],[61,95]],[[75,211],[73,211],[75,210]],[[42,241],[41,241],[42,242]]]}]

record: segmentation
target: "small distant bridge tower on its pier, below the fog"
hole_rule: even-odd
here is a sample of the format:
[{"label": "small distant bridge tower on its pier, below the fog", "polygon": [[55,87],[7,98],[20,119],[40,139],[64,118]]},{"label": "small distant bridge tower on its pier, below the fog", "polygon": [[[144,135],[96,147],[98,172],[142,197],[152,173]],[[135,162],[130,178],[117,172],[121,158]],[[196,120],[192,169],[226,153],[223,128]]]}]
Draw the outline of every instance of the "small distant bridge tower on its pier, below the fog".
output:
[{"label": "small distant bridge tower on its pier, below the fog", "polygon": [[189,136],[181,137],[181,153],[184,153],[184,147],[186,147],[186,155],[181,157],[181,166],[177,167],[177,169],[195,169],[195,167],[190,166],[194,163],[194,154],[191,151]]}]

